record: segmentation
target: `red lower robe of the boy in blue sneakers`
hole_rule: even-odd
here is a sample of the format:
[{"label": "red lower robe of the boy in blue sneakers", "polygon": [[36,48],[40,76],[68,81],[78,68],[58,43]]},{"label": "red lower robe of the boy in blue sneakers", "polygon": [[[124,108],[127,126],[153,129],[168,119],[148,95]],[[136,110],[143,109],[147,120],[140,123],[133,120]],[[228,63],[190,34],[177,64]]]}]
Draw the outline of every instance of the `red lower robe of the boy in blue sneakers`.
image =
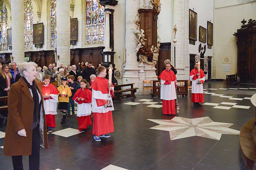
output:
[{"label": "red lower robe of the boy in blue sneakers", "polygon": [[112,111],[93,113],[92,135],[100,136],[114,132]]}]

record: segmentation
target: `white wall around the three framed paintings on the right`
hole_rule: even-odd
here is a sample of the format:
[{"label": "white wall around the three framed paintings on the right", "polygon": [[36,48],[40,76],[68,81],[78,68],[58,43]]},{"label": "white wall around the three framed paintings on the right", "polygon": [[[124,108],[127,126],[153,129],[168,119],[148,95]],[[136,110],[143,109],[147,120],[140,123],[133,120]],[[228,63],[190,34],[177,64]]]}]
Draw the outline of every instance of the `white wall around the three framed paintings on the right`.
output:
[{"label": "white wall around the three framed paintings on the right", "polygon": [[[189,9],[193,10],[197,13],[197,41],[195,45],[189,44],[188,50],[189,54],[199,54],[198,47],[199,44],[202,44],[202,47],[206,45],[206,56],[213,56],[213,48],[207,48],[207,38],[206,43],[199,41],[199,26],[202,26],[207,29],[207,21],[212,21],[213,23],[213,0],[189,0]],[[214,24],[213,24],[214,27]]]}]

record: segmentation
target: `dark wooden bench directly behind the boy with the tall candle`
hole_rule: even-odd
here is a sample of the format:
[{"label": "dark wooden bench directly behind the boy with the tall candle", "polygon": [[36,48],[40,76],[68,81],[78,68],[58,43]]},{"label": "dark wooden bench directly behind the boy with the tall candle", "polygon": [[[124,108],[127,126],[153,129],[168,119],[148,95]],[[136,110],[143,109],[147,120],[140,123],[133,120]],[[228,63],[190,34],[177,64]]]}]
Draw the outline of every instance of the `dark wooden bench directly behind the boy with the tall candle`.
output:
[{"label": "dark wooden bench directly behind the boy with the tall candle", "polygon": [[[124,85],[114,85],[114,87],[117,87],[117,89],[119,89],[119,87],[121,87],[121,90],[114,91],[114,97],[113,98],[117,98],[118,100],[120,100],[120,97],[124,97],[124,96],[136,98],[135,97],[135,92],[139,88],[133,88],[134,84],[135,83],[124,84]],[[122,87],[127,87],[127,86],[131,86],[131,88],[122,89]],[[123,92],[131,92],[131,94],[122,94]]]}]

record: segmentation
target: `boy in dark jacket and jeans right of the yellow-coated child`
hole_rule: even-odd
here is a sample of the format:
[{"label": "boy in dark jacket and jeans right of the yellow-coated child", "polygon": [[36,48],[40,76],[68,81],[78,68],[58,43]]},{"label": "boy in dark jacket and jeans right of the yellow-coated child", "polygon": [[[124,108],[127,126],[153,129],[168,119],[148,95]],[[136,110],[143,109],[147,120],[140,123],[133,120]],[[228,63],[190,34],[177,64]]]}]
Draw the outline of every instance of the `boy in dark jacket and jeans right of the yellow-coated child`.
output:
[{"label": "boy in dark jacket and jeans right of the yellow-coated child", "polygon": [[75,115],[75,103],[73,100],[73,96],[76,93],[76,91],[80,88],[79,83],[75,82],[75,76],[70,75],[68,76],[68,87],[71,90],[72,95],[69,98],[69,103],[68,103],[68,112],[67,116],[70,116],[70,106],[72,107],[72,115]]}]

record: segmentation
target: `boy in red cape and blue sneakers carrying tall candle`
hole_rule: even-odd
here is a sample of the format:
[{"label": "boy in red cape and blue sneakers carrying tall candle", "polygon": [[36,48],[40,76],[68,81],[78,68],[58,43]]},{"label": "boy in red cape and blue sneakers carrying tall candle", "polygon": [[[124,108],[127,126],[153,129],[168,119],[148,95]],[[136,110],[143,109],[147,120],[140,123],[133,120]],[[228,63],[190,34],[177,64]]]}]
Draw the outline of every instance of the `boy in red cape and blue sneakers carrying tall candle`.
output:
[{"label": "boy in red cape and blue sneakers carrying tall candle", "polygon": [[[92,113],[93,129],[92,134],[95,141],[100,142],[100,138],[108,138],[108,133],[114,132],[112,118],[114,86],[108,87],[106,67],[100,66],[97,70],[98,77],[92,84]],[[108,92],[110,91],[112,107],[107,107]]]}]

